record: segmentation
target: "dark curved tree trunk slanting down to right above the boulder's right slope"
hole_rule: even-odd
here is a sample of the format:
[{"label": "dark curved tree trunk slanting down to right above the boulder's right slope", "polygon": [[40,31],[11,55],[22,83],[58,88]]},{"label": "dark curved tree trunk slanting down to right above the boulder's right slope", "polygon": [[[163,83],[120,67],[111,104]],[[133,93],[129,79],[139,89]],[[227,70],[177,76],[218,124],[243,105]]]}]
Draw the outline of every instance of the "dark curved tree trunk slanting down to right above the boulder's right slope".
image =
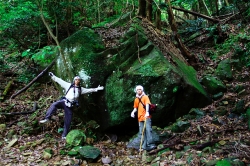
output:
[{"label": "dark curved tree trunk slanting down to right above the boulder's right slope", "polygon": [[177,24],[176,24],[175,19],[174,19],[174,14],[173,14],[173,11],[172,11],[170,0],[166,0],[166,3],[168,4],[168,9],[167,9],[168,21],[169,21],[169,24],[171,26],[171,30],[174,33],[175,40],[178,43],[178,46],[179,46],[179,49],[180,49],[182,55],[189,60],[190,65],[194,66],[195,63],[196,63],[195,57],[184,46],[184,44],[182,43],[182,41],[180,39],[180,36],[178,34]]}]

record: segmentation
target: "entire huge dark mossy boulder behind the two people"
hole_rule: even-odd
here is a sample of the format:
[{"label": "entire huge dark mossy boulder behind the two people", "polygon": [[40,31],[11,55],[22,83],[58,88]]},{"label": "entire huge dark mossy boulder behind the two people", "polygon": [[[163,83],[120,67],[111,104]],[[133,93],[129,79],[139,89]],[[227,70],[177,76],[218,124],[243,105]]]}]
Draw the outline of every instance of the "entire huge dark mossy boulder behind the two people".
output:
[{"label": "entire huge dark mossy boulder behind the two people", "polygon": [[[164,126],[189,112],[193,107],[209,104],[206,91],[196,78],[196,71],[180,58],[170,44],[171,61],[145,35],[138,24],[131,24],[118,46],[105,49],[101,36],[85,28],[61,43],[68,66],[80,75],[86,88],[104,85],[104,91],[84,95],[76,112],[82,120],[96,120],[101,129],[138,130],[137,120],[130,117],[135,99],[134,88],[142,85],[152,103],[158,104],[154,125]],[[139,49],[138,49],[139,48]],[[68,78],[61,57],[56,75]]]}]

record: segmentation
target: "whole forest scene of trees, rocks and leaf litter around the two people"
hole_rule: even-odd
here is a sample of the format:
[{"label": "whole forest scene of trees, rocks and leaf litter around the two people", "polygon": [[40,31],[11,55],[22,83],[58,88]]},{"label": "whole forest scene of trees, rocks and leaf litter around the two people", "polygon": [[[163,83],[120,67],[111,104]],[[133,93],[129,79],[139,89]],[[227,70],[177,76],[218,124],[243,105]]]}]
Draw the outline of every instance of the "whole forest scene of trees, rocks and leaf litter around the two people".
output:
[{"label": "whole forest scene of trees, rocks and leaf litter around the two people", "polygon": [[[0,165],[249,165],[249,7],[248,0],[0,0]],[[78,45],[83,52],[70,50]],[[146,64],[152,59],[158,73]],[[84,96],[71,124],[78,135],[61,140],[63,111],[39,123],[62,95],[48,72],[69,81],[86,66],[84,86],[104,91]],[[127,113],[136,83],[160,103],[152,151],[128,146],[138,130]],[[130,121],[112,121],[127,108]]]}]

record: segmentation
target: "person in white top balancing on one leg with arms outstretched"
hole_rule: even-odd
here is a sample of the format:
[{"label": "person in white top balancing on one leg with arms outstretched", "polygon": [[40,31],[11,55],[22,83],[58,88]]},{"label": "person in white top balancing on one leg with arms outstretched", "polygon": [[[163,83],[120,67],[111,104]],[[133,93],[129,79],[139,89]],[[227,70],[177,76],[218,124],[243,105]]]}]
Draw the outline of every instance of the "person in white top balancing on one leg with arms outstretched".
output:
[{"label": "person in white top balancing on one leg with arms outstretched", "polygon": [[64,109],[64,127],[63,127],[62,139],[66,139],[66,136],[70,130],[70,123],[73,115],[72,113],[73,106],[78,106],[79,96],[81,94],[103,90],[104,87],[100,85],[97,88],[89,88],[89,89],[80,87],[81,78],[79,76],[74,77],[73,84],[62,80],[59,77],[56,77],[52,72],[49,72],[49,76],[51,76],[52,80],[61,85],[61,87],[65,91],[65,97],[54,102],[50,106],[45,115],[45,119],[41,120],[40,123],[49,122],[51,116],[57,111],[57,109]]}]

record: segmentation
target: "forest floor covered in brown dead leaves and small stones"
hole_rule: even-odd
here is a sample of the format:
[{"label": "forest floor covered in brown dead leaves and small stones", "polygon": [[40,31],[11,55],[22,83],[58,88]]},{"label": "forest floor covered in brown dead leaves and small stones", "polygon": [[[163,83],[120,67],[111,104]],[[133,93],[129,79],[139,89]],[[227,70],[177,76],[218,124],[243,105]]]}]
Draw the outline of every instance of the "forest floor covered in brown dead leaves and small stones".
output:
[{"label": "forest floor covered in brown dead leaves and small stones", "polygon": [[[107,31],[108,32],[108,31]],[[122,34],[122,32],[120,32]],[[108,34],[108,33],[107,33]],[[110,35],[111,36],[111,35]],[[159,37],[159,36],[158,36]],[[155,36],[155,38],[158,38]],[[160,39],[158,41],[161,41]],[[202,45],[189,48],[194,54],[206,57],[206,49]],[[225,55],[223,58],[227,58]],[[199,74],[203,70],[215,68],[217,63],[206,58],[206,63],[199,65]],[[200,108],[206,115],[201,119],[190,120],[191,127],[182,133],[168,132],[171,137],[164,143],[169,150],[158,153],[156,149],[151,152],[139,153],[134,149],[127,149],[127,141],[122,138],[112,139],[104,135],[93,143],[101,150],[101,156],[97,160],[83,160],[79,165],[206,165],[210,162],[215,165],[216,161],[225,158],[242,161],[245,165],[250,164],[250,132],[246,119],[242,116],[231,114],[235,108],[235,103],[244,100],[244,107],[250,105],[250,81],[239,82],[237,75],[249,78],[249,68],[243,68],[235,72],[234,80],[227,82],[228,90],[219,100],[205,108]],[[198,76],[199,77],[199,76]],[[9,110],[11,113],[22,112],[23,114],[0,115],[0,124],[6,124],[6,129],[0,127],[0,165],[77,165],[80,161],[68,155],[61,155],[60,150],[66,149],[65,141],[60,139],[58,128],[62,127],[63,116],[52,123],[45,125],[42,129],[32,131],[31,134],[23,134],[23,130],[29,130],[22,126],[22,123],[30,119],[40,120],[43,118],[46,109],[57,99],[59,93],[51,82],[35,84],[27,91],[10,100],[11,94],[16,89],[23,88],[25,84],[15,81],[15,77],[10,74],[0,73],[0,88],[4,89],[9,81],[14,80],[11,90],[5,96],[5,100],[0,103],[0,110]],[[236,92],[237,86],[244,87],[241,93]],[[35,117],[25,114],[32,110],[34,103],[39,109]],[[216,110],[226,108],[224,115],[214,115]],[[232,116],[234,115],[234,116]],[[216,116],[217,123],[214,123]],[[26,124],[27,125],[27,124]],[[122,140],[122,141],[121,141]],[[187,148],[189,147],[189,148]],[[214,148],[216,147],[216,148]],[[187,148],[187,149],[186,149]],[[46,158],[45,149],[52,149],[52,158]],[[153,160],[152,162],[146,162]]]}]

